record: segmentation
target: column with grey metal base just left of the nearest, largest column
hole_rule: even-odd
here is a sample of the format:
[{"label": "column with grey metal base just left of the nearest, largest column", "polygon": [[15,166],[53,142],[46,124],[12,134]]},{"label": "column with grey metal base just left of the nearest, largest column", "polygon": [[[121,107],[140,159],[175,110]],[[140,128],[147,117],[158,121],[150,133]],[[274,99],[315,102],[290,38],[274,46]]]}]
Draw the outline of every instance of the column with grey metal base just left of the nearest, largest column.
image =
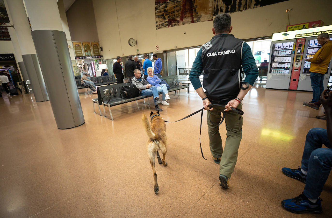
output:
[{"label": "column with grey metal base just left of the nearest, largest column", "polygon": [[[34,91],[35,99],[37,102],[48,101],[49,98],[37,58],[36,49],[31,37],[31,29],[23,1],[5,0],[5,2],[8,5],[7,11],[9,11],[10,14],[10,22],[15,28],[18,43],[22,52],[22,59]],[[24,80],[26,79],[27,78],[24,78]]]}]

